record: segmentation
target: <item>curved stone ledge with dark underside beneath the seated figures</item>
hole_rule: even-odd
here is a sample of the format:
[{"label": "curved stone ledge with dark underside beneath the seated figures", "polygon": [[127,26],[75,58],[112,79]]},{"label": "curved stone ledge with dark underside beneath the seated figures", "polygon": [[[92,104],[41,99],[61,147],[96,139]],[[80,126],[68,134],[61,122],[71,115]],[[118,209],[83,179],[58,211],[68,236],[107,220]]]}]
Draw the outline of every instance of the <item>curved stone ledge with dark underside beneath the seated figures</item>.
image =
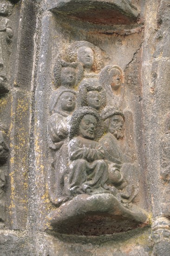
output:
[{"label": "curved stone ledge with dark underside beneath the seated figures", "polygon": [[48,217],[59,233],[92,236],[124,232],[148,223],[143,209],[119,202],[110,193],[77,195]]}]

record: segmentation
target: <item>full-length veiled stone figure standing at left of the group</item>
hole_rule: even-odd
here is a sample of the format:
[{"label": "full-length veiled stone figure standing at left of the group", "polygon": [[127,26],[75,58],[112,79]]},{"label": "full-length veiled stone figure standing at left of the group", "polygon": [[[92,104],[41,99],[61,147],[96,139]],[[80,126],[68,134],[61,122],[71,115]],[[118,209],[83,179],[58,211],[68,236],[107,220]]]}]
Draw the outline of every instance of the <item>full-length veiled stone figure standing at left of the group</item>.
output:
[{"label": "full-length veiled stone figure standing at left of the group", "polygon": [[[66,200],[65,186],[68,174],[68,134],[70,129],[70,119],[76,107],[76,92],[73,90],[57,90],[53,93],[50,102],[51,117],[48,122],[48,144],[54,151],[51,174],[52,184],[50,184],[51,201],[59,204]],[[51,170],[52,173],[52,170]],[[53,184],[55,183],[55,184]]]}]

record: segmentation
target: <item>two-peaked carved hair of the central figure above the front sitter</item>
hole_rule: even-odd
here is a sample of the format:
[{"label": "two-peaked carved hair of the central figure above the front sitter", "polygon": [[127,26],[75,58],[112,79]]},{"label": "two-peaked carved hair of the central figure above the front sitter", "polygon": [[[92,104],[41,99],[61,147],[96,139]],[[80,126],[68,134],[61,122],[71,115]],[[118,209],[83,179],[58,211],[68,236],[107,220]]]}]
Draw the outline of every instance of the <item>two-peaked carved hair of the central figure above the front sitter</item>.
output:
[{"label": "two-peaked carved hair of the central figure above the front sitter", "polygon": [[101,85],[92,84],[92,79],[85,79],[79,86],[79,98],[82,107],[88,106],[87,104],[87,94],[90,91],[98,91],[101,96],[102,107],[106,105],[106,93]]}]

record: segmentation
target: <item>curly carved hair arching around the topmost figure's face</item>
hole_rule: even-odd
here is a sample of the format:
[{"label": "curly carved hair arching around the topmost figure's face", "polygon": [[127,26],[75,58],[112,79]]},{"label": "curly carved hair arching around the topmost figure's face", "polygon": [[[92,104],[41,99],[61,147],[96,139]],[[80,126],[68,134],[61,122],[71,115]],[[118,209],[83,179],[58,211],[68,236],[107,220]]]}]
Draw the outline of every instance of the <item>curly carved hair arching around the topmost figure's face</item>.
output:
[{"label": "curly carved hair arching around the topmost figure's face", "polygon": [[100,48],[87,41],[77,41],[72,43],[65,52],[66,61],[73,62],[77,61],[78,49],[81,47],[89,47],[94,53],[94,63],[92,70],[99,71],[103,67],[102,52]]}]

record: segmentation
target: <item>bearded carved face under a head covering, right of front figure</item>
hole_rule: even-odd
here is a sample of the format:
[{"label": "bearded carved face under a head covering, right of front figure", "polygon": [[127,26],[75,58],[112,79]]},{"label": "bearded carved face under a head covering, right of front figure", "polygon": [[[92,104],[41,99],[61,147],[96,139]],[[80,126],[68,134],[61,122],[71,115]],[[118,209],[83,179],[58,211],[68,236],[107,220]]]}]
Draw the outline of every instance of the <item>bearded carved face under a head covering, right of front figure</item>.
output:
[{"label": "bearded carved face under a head covering, right of front figure", "polygon": [[108,131],[114,135],[117,139],[123,138],[124,132],[124,119],[121,115],[113,115],[109,120]]}]

